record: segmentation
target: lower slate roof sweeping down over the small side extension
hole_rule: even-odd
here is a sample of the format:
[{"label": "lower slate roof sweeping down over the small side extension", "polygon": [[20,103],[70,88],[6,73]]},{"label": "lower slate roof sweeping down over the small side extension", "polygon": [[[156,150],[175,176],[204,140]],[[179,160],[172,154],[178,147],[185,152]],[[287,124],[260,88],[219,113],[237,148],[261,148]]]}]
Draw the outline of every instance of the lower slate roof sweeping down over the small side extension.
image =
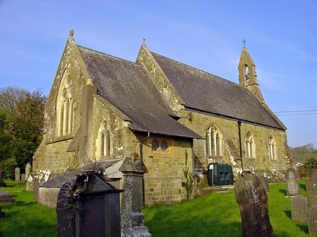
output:
[{"label": "lower slate roof sweeping down over the small side extension", "polygon": [[163,100],[142,66],[79,45],[78,49],[97,87],[97,94],[131,119],[130,128],[141,132],[202,138],[172,118],[177,115]]}]

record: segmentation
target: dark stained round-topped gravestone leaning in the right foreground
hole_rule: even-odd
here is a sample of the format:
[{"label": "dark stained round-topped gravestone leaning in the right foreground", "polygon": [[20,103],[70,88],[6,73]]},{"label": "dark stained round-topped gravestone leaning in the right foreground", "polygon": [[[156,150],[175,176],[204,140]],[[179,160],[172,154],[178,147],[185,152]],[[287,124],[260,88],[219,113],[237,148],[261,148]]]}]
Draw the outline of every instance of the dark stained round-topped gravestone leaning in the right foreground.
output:
[{"label": "dark stained round-topped gravestone leaning in the right foreground", "polygon": [[234,193],[240,207],[243,237],[274,237],[263,182],[250,171],[237,176]]}]

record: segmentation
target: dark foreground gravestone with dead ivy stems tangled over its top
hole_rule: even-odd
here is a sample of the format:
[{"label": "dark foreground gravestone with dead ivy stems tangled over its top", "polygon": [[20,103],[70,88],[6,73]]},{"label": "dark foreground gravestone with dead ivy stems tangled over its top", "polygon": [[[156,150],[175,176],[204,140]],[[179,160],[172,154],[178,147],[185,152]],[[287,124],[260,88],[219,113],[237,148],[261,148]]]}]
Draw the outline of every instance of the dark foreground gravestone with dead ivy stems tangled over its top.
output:
[{"label": "dark foreground gravestone with dead ivy stems tangled over its top", "polygon": [[122,191],[94,173],[78,175],[75,184],[65,183],[56,203],[57,237],[120,237]]}]

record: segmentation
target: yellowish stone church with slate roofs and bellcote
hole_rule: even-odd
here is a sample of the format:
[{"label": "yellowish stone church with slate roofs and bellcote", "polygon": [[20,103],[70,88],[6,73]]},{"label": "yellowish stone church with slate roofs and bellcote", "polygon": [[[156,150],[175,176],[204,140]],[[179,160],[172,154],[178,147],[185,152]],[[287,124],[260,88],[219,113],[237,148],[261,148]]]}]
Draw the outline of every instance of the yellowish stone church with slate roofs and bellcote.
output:
[{"label": "yellowish stone church with slate roofs and bellcote", "polygon": [[145,43],[129,62],[79,46],[71,36],[28,189],[95,160],[109,161],[109,176],[120,179],[122,159],[137,153],[149,171],[145,201],[178,201],[186,194],[186,151],[198,188],[210,162],[230,164],[234,174],[247,169],[269,182],[284,180],[292,162],[286,127],[265,104],[245,47],[238,72],[239,84],[151,52]]}]

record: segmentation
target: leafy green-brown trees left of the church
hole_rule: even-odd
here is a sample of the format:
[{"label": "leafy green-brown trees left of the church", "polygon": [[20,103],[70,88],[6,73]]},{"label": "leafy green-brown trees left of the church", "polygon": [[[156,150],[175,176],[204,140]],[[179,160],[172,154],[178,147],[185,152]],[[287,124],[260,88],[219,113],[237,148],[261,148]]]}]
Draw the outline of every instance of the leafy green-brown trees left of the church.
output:
[{"label": "leafy green-brown trees left of the church", "polygon": [[42,94],[40,88],[32,93],[17,86],[0,89],[0,159],[14,158],[22,172],[42,141],[47,100]]}]

